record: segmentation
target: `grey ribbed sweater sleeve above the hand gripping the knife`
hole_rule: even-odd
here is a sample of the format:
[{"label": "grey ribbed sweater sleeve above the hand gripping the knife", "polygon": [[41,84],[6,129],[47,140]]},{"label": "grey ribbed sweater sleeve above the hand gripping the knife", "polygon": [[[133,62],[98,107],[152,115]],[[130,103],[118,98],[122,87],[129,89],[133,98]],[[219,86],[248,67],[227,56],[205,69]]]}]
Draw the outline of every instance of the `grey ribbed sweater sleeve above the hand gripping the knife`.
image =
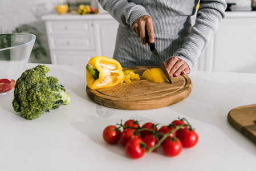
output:
[{"label": "grey ribbed sweater sleeve above the hand gripping the knife", "polygon": [[128,0],[98,0],[104,10],[116,19],[121,26],[132,26],[135,20],[143,15],[149,15],[145,8]]}]

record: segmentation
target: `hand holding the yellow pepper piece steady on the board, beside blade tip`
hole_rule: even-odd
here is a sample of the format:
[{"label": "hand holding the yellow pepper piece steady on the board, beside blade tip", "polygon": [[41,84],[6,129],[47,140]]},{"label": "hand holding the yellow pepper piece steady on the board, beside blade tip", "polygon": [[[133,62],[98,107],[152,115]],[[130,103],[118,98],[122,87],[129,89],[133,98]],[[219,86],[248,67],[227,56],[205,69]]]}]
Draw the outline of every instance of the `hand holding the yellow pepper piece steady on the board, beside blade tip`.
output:
[{"label": "hand holding the yellow pepper piece steady on the board, beside blade tip", "polygon": [[190,72],[188,64],[184,60],[177,58],[176,56],[166,60],[164,62],[166,70],[170,77],[179,76],[181,74],[188,74]]}]

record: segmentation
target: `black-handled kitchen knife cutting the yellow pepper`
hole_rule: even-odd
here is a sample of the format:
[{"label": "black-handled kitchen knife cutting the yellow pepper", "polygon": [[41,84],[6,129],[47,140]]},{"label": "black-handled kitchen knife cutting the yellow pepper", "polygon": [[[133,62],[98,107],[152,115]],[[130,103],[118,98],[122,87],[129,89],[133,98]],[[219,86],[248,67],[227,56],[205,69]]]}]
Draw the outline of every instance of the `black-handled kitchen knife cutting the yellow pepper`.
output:
[{"label": "black-handled kitchen knife cutting the yellow pepper", "polygon": [[147,28],[145,28],[145,35],[146,35],[146,42],[148,43],[148,45],[150,47],[150,50],[152,51],[153,56],[155,57],[156,61],[159,63],[160,68],[162,69],[162,71],[164,71],[164,75],[169,80],[170,84],[172,84],[172,80],[170,79],[170,75],[169,75],[168,71],[166,70],[166,68],[164,66],[164,63],[162,62],[162,59],[160,58],[159,53],[156,50],[155,43],[151,43],[149,41],[149,36],[148,36]]}]

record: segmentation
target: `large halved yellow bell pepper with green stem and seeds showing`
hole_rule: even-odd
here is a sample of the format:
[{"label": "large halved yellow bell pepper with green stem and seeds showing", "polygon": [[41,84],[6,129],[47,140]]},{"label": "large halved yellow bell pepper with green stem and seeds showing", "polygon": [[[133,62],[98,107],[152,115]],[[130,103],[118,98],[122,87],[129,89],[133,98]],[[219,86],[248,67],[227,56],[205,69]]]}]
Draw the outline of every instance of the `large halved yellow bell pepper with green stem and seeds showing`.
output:
[{"label": "large halved yellow bell pepper with green stem and seeds showing", "polygon": [[91,89],[116,86],[123,78],[123,68],[115,59],[95,56],[88,61],[86,80]]}]

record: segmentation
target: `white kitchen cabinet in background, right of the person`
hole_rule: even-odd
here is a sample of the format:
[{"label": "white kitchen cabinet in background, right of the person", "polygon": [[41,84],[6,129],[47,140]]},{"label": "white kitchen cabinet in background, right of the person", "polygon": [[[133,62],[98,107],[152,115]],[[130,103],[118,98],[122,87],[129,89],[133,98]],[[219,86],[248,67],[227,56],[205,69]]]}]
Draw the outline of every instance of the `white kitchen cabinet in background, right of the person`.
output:
[{"label": "white kitchen cabinet in background, right of the person", "polygon": [[226,18],[195,70],[256,73],[256,12],[226,12]]}]

